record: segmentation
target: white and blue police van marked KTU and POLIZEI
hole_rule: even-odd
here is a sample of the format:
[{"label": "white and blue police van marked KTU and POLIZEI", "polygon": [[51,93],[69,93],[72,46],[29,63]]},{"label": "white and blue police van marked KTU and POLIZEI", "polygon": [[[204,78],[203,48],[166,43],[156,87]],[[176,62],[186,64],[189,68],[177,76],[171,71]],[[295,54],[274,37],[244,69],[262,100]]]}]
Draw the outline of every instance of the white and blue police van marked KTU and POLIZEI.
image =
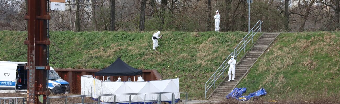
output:
[{"label": "white and blue police van marked KTU and POLIZEI", "polygon": [[[0,93],[27,92],[27,62],[0,61]],[[51,67],[48,71],[48,89],[54,94],[68,94],[70,85]]]}]

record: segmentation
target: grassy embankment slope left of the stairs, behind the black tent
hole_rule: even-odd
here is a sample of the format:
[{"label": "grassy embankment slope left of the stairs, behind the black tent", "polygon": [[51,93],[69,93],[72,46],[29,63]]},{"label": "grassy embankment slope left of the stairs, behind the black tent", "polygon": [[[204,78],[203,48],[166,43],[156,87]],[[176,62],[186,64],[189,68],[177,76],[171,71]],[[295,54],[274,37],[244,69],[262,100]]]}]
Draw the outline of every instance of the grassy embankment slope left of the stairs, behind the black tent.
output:
[{"label": "grassy embankment slope left of the stairs, behind the black tent", "polygon": [[[103,69],[121,56],[134,68],[157,70],[164,79],[179,77],[181,92],[202,99],[207,79],[246,34],[164,31],[153,51],[154,32],[51,32],[50,65]],[[0,31],[0,60],[27,61],[26,37],[27,32]]]}]

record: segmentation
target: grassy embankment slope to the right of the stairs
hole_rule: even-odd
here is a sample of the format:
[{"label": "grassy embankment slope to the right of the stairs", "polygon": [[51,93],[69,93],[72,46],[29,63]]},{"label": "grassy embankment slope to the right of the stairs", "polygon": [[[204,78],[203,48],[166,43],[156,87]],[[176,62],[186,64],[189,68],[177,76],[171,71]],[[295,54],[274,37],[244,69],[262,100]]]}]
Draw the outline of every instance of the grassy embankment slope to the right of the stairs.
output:
[{"label": "grassy embankment slope to the right of the stairs", "polygon": [[237,87],[248,93],[263,87],[267,98],[339,95],[339,54],[340,32],[283,33]]}]

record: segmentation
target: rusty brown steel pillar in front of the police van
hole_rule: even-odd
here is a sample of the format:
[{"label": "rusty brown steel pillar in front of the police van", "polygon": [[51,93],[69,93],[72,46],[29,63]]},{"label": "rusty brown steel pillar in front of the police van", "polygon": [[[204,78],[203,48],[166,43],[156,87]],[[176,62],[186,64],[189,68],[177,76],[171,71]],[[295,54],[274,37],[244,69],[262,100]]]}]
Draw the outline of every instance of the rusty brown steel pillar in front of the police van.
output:
[{"label": "rusty brown steel pillar in front of the police van", "polygon": [[47,12],[47,0],[28,0],[28,38],[24,41],[28,45],[27,64],[28,90],[27,104],[46,104],[46,97],[50,95],[46,85],[46,72],[50,70],[47,64],[47,20],[51,16]]}]

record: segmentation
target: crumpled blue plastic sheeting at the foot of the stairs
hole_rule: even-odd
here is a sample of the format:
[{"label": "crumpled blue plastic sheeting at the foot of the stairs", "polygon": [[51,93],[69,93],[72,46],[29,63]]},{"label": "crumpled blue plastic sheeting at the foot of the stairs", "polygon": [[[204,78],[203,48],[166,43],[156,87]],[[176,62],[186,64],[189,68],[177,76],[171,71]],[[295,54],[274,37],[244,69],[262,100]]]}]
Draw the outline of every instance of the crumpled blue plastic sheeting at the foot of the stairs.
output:
[{"label": "crumpled blue plastic sheeting at the foot of the stairs", "polygon": [[255,96],[262,96],[262,95],[267,95],[266,89],[261,88],[260,90],[254,92],[254,93],[249,93],[248,96],[242,96],[242,94],[245,93],[247,88],[235,88],[230,92],[227,96],[225,96],[227,99],[235,98],[239,101],[246,101],[249,100]]}]

